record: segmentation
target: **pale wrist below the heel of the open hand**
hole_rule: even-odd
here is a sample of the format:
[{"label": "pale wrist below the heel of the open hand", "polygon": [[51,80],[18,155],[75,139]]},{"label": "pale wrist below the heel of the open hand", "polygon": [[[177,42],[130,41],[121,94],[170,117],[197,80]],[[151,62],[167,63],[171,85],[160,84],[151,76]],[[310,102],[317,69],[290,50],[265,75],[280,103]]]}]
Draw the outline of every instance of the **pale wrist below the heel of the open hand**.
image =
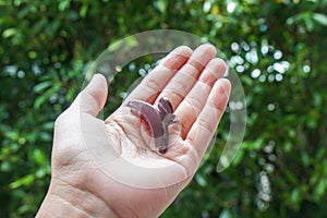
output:
[{"label": "pale wrist below the heel of the open hand", "polygon": [[36,217],[118,217],[94,194],[64,182],[51,182]]}]

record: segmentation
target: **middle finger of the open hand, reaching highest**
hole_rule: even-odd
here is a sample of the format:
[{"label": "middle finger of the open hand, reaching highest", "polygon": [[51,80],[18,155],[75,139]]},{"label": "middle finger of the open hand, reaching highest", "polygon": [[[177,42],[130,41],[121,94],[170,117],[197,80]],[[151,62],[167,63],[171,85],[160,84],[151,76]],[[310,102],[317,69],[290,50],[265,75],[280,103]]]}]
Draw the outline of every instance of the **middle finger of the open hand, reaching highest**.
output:
[{"label": "middle finger of the open hand, reaching highest", "polygon": [[206,64],[215,56],[216,49],[214,46],[206,44],[197,47],[189,61],[167,84],[157,100],[164,96],[168,97],[172,108],[175,109],[191,90]]}]

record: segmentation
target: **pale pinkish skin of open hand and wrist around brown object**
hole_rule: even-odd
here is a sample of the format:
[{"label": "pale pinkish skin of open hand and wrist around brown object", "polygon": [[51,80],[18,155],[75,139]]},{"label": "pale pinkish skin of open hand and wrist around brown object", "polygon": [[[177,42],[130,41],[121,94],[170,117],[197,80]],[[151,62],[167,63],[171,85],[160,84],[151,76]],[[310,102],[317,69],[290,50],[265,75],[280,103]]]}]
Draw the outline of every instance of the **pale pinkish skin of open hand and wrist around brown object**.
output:
[{"label": "pale pinkish skin of open hand and wrist around brown object", "polygon": [[[105,106],[108,88],[106,78],[96,74],[56,120],[51,183],[37,217],[158,217],[191,181],[227,106],[231,87],[229,81],[221,78],[226,64],[215,56],[210,45],[194,51],[178,47],[105,121],[96,117]],[[165,154],[142,153],[140,147],[147,144],[135,131],[140,119],[131,112],[121,114],[130,111],[126,102],[131,100],[154,105],[164,96],[181,125],[175,146]],[[104,169],[119,166],[108,160],[101,162],[100,169],[95,164],[93,158],[97,157],[90,157],[83,141],[88,137],[88,148],[98,152],[99,157],[110,159],[116,155],[141,166],[171,165],[172,173],[164,175],[182,179],[167,185],[164,181],[157,189],[123,184],[104,173]],[[149,184],[155,182],[155,178],[149,180],[145,174],[137,177]]]}]

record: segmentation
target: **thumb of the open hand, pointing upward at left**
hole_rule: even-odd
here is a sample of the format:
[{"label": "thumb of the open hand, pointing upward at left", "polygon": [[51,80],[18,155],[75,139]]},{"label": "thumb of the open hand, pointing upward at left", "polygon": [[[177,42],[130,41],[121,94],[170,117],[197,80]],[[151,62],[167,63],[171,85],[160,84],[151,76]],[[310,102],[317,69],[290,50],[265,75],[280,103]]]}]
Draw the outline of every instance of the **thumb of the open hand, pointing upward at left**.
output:
[{"label": "thumb of the open hand, pointing upward at left", "polygon": [[88,85],[78,94],[70,108],[96,117],[104,108],[108,95],[107,81],[102,74],[95,74]]}]

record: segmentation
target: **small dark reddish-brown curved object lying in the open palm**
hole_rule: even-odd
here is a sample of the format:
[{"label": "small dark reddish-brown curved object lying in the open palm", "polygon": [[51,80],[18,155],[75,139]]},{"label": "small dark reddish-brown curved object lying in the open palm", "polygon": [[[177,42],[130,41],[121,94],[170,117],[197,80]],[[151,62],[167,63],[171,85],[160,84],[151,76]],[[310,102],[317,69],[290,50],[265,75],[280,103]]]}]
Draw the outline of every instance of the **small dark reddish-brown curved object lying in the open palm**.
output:
[{"label": "small dark reddish-brown curved object lying in the open palm", "polygon": [[169,134],[168,125],[177,123],[178,119],[172,112],[172,106],[167,97],[162,97],[155,105],[142,100],[131,100],[128,102],[131,111],[143,117],[149,124],[156,147],[164,154],[168,149]]}]

